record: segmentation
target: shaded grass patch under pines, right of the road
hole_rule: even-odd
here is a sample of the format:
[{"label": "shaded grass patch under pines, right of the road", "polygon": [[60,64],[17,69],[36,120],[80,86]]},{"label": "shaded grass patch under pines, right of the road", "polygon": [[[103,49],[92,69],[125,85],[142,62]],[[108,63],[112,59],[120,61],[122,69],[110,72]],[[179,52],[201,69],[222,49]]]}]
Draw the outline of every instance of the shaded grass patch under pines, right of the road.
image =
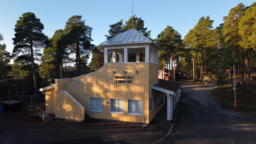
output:
[{"label": "shaded grass patch under pines, right of the road", "polygon": [[[234,91],[234,90],[233,90]],[[232,97],[231,85],[220,87],[220,94],[218,89],[213,90],[212,95],[217,98],[223,105],[229,107],[231,110],[241,113],[256,116],[256,82],[248,84],[244,89],[236,88],[236,102],[237,108],[234,108],[234,99]]]}]

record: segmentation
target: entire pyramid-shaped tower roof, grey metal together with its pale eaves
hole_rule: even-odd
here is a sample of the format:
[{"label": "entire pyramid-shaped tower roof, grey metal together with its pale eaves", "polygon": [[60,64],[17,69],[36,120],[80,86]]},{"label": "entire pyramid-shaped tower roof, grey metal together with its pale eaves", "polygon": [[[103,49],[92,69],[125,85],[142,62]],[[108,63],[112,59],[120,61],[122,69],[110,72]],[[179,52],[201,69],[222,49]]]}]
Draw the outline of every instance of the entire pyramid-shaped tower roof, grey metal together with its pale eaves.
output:
[{"label": "entire pyramid-shaped tower roof, grey metal together with its pale eaves", "polygon": [[123,45],[140,45],[140,44],[150,44],[157,50],[161,50],[159,46],[157,46],[153,41],[149,38],[145,37],[143,34],[131,28],[127,31],[124,31],[118,34],[111,39],[108,39],[105,42],[100,43],[101,47],[111,47],[111,46],[123,46]]}]

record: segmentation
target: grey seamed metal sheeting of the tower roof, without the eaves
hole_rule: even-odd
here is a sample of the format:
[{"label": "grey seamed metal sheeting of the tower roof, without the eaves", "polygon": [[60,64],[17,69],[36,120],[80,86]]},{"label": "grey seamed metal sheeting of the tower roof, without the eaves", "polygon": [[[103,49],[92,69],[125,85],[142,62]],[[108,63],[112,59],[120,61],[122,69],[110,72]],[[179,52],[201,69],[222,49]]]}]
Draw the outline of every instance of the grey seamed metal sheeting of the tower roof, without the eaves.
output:
[{"label": "grey seamed metal sheeting of the tower roof, without the eaves", "polygon": [[102,42],[100,45],[117,44],[117,43],[137,43],[137,42],[151,42],[151,40],[145,37],[140,32],[136,31],[134,28],[131,28],[125,32],[118,34],[115,37],[112,37],[111,39],[108,39],[105,42]]}]

